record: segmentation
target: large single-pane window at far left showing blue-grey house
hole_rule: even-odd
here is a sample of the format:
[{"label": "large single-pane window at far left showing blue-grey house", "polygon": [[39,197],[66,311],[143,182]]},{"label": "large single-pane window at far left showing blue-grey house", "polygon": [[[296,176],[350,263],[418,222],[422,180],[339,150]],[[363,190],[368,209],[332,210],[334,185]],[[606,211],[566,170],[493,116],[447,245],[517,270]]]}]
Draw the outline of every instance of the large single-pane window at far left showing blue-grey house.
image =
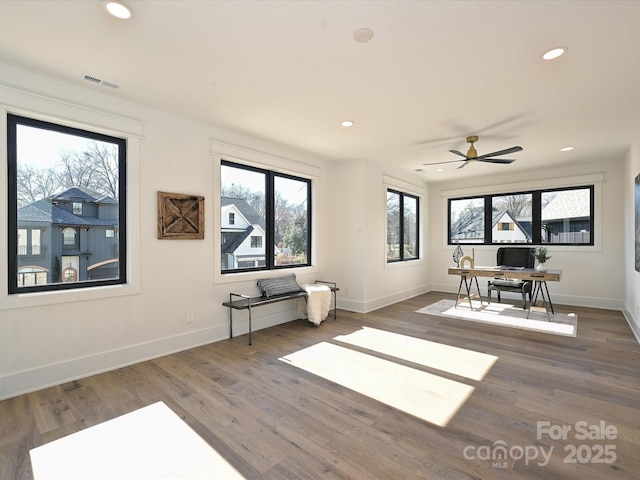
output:
[{"label": "large single-pane window at far left showing blue-grey house", "polygon": [[7,115],[7,162],[9,293],[126,283],[126,140]]}]

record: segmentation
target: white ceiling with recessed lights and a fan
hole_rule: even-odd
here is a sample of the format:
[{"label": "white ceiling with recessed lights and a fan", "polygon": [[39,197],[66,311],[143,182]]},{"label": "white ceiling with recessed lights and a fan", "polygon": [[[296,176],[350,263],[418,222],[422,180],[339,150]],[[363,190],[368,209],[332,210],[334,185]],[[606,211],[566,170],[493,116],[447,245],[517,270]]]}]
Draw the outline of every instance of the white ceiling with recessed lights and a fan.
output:
[{"label": "white ceiling with recessed lights and a fan", "polygon": [[[619,161],[640,131],[637,1],[125,3],[129,21],[101,0],[1,0],[0,62],[426,181]],[[356,42],[359,28],[373,39]],[[558,45],[568,53],[541,59]],[[524,151],[422,165],[455,160],[472,134],[480,155]]]}]

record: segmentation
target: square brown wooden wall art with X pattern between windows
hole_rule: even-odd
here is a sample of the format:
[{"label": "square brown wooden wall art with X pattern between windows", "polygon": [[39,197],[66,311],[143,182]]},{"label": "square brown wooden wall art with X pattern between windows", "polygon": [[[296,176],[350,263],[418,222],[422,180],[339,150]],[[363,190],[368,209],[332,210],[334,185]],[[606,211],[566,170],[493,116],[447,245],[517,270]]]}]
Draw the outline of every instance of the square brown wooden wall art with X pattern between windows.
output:
[{"label": "square brown wooden wall art with X pattern between windows", "polygon": [[202,240],[204,197],[158,192],[158,238]]}]

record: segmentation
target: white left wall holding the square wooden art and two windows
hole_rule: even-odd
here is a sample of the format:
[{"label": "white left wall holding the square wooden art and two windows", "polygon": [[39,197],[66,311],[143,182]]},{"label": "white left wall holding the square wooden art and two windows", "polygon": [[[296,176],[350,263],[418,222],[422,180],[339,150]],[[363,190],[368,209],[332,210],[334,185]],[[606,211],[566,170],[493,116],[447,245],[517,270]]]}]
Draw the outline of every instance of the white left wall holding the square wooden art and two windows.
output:
[{"label": "white left wall holding the square wooden art and two windows", "polygon": [[[60,122],[82,117],[82,126],[107,133],[122,133],[121,125],[133,131],[127,133],[131,285],[9,296],[6,258],[0,256],[0,399],[228,337],[228,311],[221,304],[231,291],[257,295],[259,275],[220,279],[219,172],[212,140],[240,145],[227,148],[236,160],[311,172],[315,266],[296,273],[301,282],[334,279],[325,265],[340,234],[322,159],[120,101],[103,95],[99,86],[58,82],[2,64],[0,79],[2,117],[4,111],[45,112]],[[0,142],[6,158],[4,135]],[[1,198],[7,195],[5,164],[0,164]],[[204,195],[204,240],[157,239],[158,191]],[[0,205],[0,249],[6,252],[6,202]],[[188,313],[194,323],[187,323]],[[245,333],[246,312],[237,318],[234,333]],[[293,318],[294,302],[263,307],[255,312],[254,330]]]}]

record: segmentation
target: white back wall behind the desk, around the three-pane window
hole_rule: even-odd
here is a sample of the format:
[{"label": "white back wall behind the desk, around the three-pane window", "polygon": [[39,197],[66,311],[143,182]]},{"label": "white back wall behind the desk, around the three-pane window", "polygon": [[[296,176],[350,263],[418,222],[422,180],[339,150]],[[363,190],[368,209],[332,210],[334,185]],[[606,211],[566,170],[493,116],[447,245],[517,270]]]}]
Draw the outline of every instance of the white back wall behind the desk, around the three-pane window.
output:
[{"label": "white back wall behind the desk, around the three-pane window", "polygon": [[[447,197],[572,186],[595,181],[595,245],[549,247],[553,257],[547,262],[549,268],[563,271],[562,280],[549,283],[549,290],[552,301],[558,304],[621,309],[625,291],[622,227],[625,222],[624,165],[622,158],[607,159],[597,163],[533,170],[526,175],[494,175],[430,185],[431,289],[455,293],[458,288],[459,278],[447,274],[447,268],[453,266],[451,257],[454,250],[453,246],[447,245],[446,239]],[[470,246],[463,246],[463,250],[466,255],[471,254]],[[476,246],[476,264],[495,265],[496,250],[495,246]],[[484,295],[486,282],[480,282],[480,289]]]}]

